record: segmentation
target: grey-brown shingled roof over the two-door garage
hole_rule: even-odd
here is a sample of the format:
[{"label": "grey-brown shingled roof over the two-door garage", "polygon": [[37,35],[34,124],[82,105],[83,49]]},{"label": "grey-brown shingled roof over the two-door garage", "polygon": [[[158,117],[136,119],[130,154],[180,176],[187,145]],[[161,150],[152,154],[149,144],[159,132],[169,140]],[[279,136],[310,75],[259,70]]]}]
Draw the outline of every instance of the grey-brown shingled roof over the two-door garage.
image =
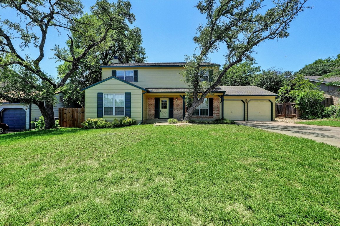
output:
[{"label": "grey-brown shingled roof over the two-door garage", "polygon": [[224,96],[277,96],[276,93],[257,86],[220,86]]}]

